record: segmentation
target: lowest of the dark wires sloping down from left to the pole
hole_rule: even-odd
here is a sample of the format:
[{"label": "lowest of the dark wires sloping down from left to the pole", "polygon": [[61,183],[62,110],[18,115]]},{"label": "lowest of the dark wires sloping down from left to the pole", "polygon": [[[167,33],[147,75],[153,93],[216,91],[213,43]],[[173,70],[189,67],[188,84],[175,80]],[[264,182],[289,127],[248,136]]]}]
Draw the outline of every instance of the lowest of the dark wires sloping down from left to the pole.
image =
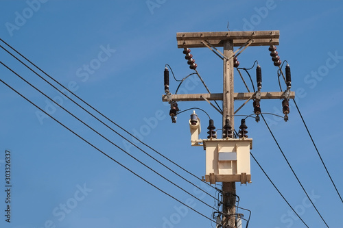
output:
[{"label": "lowest of the dark wires sloping down from left to the pole", "polygon": [[[86,142],[87,144],[89,144],[91,147],[93,147],[94,149],[96,149],[97,151],[99,151],[100,153],[102,153],[103,155],[105,155],[106,157],[110,158],[110,160],[113,160],[113,162],[116,162],[117,164],[119,164],[119,166],[125,168],[126,170],[128,170],[130,173],[132,173],[133,175],[139,177],[140,179],[142,179],[143,181],[145,181],[146,183],[149,183],[151,186],[153,186],[154,188],[156,188],[157,190],[163,192],[164,194],[167,194],[167,196],[171,197],[172,199],[178,201],[179,203],[181,203],[182,205],[185,205],[186,207],[188,207],[189,209],[193,210],[194,212],[200,214],[201,216],[203,216],[204,218],[207,218],[211,221],[213,221],[211,218],[205,216],[204,214],[198,212],[197,210],[193,209],[193,207],[190,207],[189,205],[187,205],[186,203],[182,203],[182,201],[176,199],[175,197],[171,196],[171,194],[168,194],[167,192],[163,191],[161,188],[158,188],[157,186],[155,186],[153,183],[151,183],[150,181],[147,181],[146,179],[144,179],[143,177],[141,177],[140,175],[138,175],[137,173],[134,173],[134,171],[130,170],[130,168],[124,166],[123,164],[121,164],[120,162],[118,162],[117,160],[115,160],[113,157],[110,157],[110,155],[108,155],[107,153],[105,153],[104,151],[100,150],[99,148],[95,147],[95,145],[91,144],[91,142],[88,142],[88,140],[82,138],[82,136],[80,136],[79,134],[75,133],[75,131],[73,131],[72,129],[70,129],[69,127],[67,127],[66,125],[64,125],[63,123],[61,123],[60,121],[58,121],[56,118],[54,118],[53,116],[51,116],[50,114],[48,114],[47,112],[45,112],[43,109],[41,109],[40,107],[38,107],[38,105],[36,105],[35,103],[33,103],[32,101],[30,101],[29,99],[27,99],[27,97],[23,96],[23,94],[21,94],[20,92],[18,92],[17,90],[15,90],[14,88],[12,88],[10,85],[6,84],[5,81],[3,81],[2,79],[0,79],[0,82],[2,82],[5,86],[7,86],[8,88],[10,88],[11,90],[13,90],[14,92],[16,92],[16,94],[19,94],[19,96],[23,97],[23,99],[25,99],[26,101],[28,101],[29,103],[31,103],[32,105],[34,105],[36,108],[38,108],[38,110],[40,110],[41,112],[44,112],[45,114],[47,114],[47,116],[49,116],[50,118],[52,118],[54,121],[56,121],[57,123],[59,123],[60,125],[62,125],[62,127],[64,127],[65,129],[69,130],[72,134],[74,134],[75,136],[78,136],[78,138],[80,138],[81,140],[83,140],[84,142]],[[214,222],[214,221],[213,221]]]}]

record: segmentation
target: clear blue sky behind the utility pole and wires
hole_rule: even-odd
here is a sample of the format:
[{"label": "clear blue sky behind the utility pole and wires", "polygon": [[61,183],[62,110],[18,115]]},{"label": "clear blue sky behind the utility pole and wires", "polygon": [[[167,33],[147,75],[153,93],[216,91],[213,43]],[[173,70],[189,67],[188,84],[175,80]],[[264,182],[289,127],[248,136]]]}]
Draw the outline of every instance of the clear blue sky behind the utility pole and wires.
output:
[{"label": "clear blue sky behind the utility pole and wires", "polygon": [[[181,79],[192,71],[177,48],[180,31],[279,30],[277,51],[292,71],[292,90],[322,158],[343,194],[342,183],[342,1],[0,1],[0,38],[15,47],[64,86],[198,177],[204,175],[204,151],[190,146],[189,114],[172,124],[161,101],[163,69],[169,64]],[[3,46],[3,44],[1,43]],[[222,60],[209,49],[191,49],[198,71],[211,92],[222,92]],[[241,67],[259,61],[262,91],[279,91],[276,67],[268,47],[249,47]],[[0,61],[10,66],[75,116],[104,134],[138,160],[154,168],[196,197],[211,197],[150,160],[16,62],[2,49]],[[87,68],[88,67],[88,68]],[[250,71],[255,77],[255,68]],[[162,190],[211,217],[211,208],[141,166],[104,138],[52,105],[46,97],[0,67],[1,80],[50,112]],[[246,77],[246,75],[244,75]],[[248,78],[246,77],[248,80]],[[254,79],[255,81],[255,79]],[[178,83],[171,79],[174,92]],[[196,77],[184,93],[206,92]],[[235,92],[246,88],[235,71]],[[132,175],[71,134],[37,108],[0,84],[1,227],[211,227],[211,222]],[[239,107],[241,102],[235,102]],[[180,110],[200,107],[220,128],[222,116],[206,102],[179,103]],[[261,101],[262,112],[281,113],[281,101]],[[201,138],[206,138],[207,117]],[[249,102],[239,114],[252,114]],[[96,114],[98,118],[102,118]],[[289,121],[265,116],[289,163],[329,227],[341,227],[343,205],[319,160],[305,127],[291,106]],[[236,128],[240,117],[235,118]],[[104,120],[104,118],[102,118]],[[116,131],[131,136],[104,120]],[[308,204],[263,122],[247,119],[252,153],[309,227],[324,227]],[[141,147],[141,144],[137,144]],[[161,159],[150,149],[142,148]],[[11,151],[11,223],[5,222],[5,150]],[[196,185],[200,181],[165,162]],[[250,227],[305,227],[251,160],[252,183],[237,183],[241,207],[252,211]],[[218,186],[219,187],[219,186]],[[213,188],[202,187],[215,195]],[[246,217],[248,214],[245,214]]]}]

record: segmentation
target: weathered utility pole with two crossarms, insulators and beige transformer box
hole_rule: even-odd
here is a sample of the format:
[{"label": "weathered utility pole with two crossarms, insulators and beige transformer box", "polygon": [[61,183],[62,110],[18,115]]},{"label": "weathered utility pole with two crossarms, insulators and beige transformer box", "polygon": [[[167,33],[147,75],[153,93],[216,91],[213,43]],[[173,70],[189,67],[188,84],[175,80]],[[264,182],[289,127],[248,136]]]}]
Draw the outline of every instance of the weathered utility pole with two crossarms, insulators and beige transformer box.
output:
[{"label": "weathered utility pole with two crossarms, insulators and beige transformer box", "polygon": [[[165,89],[166,94],[163,95],[162,99],[171,104],[170,114],[173,121],[175,121],[173,115],[176,116],[178,111],[178,106],[176,105],[178,101],[223,101],[223,129],[226,125],[226,120],[230,121],[230,126],[234,129],[234,114],[243,106],[235,111],[235,100],[246,100],[246,103],[250,99],[254,101],[260,101],[261,99],[284,99],[284,101],[288,101],[295,97],[295,93],[289,90],[290,75],[285,92],[261,92],[261,85],[258,86],[257,92],[234,92],[233,73],[235,61],[237,56],[247,47],[270,46],[274,65],[280,68],[281,61],[279,56],[277,56],[276,47],[274,46],[279,45],[279,31],[187,32],[177,33],[176,39],[178,41],[178,48],[184,48],[184,53],[188,53],[188,56],[189,48],[207,47],[223,60],[223,92],[215,94],[171,94],[168,82],[167,89]],[[223,53],[217,47],[223,47]],[[239,47],[239,49],[234,52],[234,47]],[[196,69],[193,59],[190,59],[188,63],[192,64],[190,66],[191,69]],[[198,71],[196,73],[198,74]],[[285,104],[283,102],[283,105]],[[287,108],[288,106],[284,107],[285,121],[287,121],[286,117],[289,113],[289,108]],[[198,121],[200,122],[200,119]],[[239,139],[232,136],[223,136],[222,139],[209,138],[201,140],[198,138],[200,129],[197,129],[197,127],[200,128],[200,123],[194,121],[191,124],[191,120],[189,123],[193,125],[191,126],[192,146],[203,146],[206,149],[206,182],[211,184],[222,182],[222,227],[235,228],[237,219],[235,182],[251,182],[249,149],[252,149],[252,139],[245,138],[244,136]]]}]

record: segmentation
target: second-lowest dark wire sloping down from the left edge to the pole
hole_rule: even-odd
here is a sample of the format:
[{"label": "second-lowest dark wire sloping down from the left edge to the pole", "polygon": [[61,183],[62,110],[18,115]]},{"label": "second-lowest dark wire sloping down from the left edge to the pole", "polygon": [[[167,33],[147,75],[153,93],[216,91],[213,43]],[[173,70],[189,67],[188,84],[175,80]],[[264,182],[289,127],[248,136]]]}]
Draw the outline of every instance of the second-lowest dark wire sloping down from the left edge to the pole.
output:
[{"label": "second-lowest dark wire sloping down from the left edge to the pole", "polygon": [[[41,90],[39,90],[38,88],[36,88],[35,86],[33,86],[32,84],[30,84],[28,81],[26,81],[23,77],[21,77],[18,73],[14,72],[11,68],[9,68],[8,66],[6,66],[5,64],[3,64],[3,62],[0,61],[0,64],[2,64],[3,66],[5,66],[6,68],[8,68],[8,70],[10,70],[12,73],[14,73],[16,76],[20,77],[23,81],[25,81],[27,84],[29,84],[29,86],[31,86],[32,88],[34,88],[35,90],[37,90],[38,92],[40,92],[40,94],[43,94],[45,97],[47,97],[47,99],[49,99],[50,101],[54,102],[56,105],[58,105],[60,108],[62,108],[62,110],[64,110],[65,112],[67,112],[68,114],[70,114],[71,116],[73,116],[75,119],[77,119],[80,123],[84,124],[86,127],[88,127],[89,129],[91,129],[92,131],[94,131],[97,135],[101,136],[102,138],[104,138],[104,140],[110,142],[110,144],[113,144],[113,146],[117,147],[117,149],[123,151],[124,153],[126,153],[127,155],[129,155],[132,159],[136,160],[137,162],[139,162],[139,164],[145,166],[145,168],[148,168],[149,170],[151,170],[153,173],[155,173],[156,175],[158,175],[159,177],[162,177],[163,179],[165,179],[166,181],[168,181],[169,183],[173,184],[174,186],[176,186],[177,188],[179,188],[180,190],[182,190],[183,192],[186,192],[187,194],[189,194],[191,197],[194,197],[195,199],[197,199],[198,201],[204,203],[205,205],[207,205],[208,207],[211,207],[211,205],[209,205],[208,203],[205,203],[204,201],[202,201],[201,199],[199,199],[198,197],[194,196],[193,194],[191,194],[190,192],[188,192],[187,190],[185,190],[184,188],[178,186],[176,183],[174,183],[173,181],[167,179],[166,177],[164,177],[163,175],[161,175],[160,173],[158,173],[156,170],[154,170],[153,168],[151,168],[150,166],[147,166],[147,164],[141,162],[139,159],[137,159],[136,157],[134,157],[133,155],[131,155],[130,153],[128,153],[127,151],[125,151],[124,149],[122,149],[121,147],[119,147],[117,144],[115,144],[114,142],[110,141],[108,138],[106,138],[105,136],[103,136],[102,134],[100,134],[98,131],[96,131],[95,129],[93,129],[91,126],[87,125],[84,121],[82,121],[80,118],[78,118],[77,116],[75,116],[74,114],[72,114],[71,112],[69,112],[68,110],[66,110],[64,107],[62,107],[62,105],[60,105],[58,102],[54,101],[54,99],[51,99],[49,96],[47,96],[47,94],[45,94],[44,92],[42,92]],[[143,151],[143,150],[142,150]],[[145,151],[143,151],[145,153]],[[147,154],[147,153],[145,153]]]}]

